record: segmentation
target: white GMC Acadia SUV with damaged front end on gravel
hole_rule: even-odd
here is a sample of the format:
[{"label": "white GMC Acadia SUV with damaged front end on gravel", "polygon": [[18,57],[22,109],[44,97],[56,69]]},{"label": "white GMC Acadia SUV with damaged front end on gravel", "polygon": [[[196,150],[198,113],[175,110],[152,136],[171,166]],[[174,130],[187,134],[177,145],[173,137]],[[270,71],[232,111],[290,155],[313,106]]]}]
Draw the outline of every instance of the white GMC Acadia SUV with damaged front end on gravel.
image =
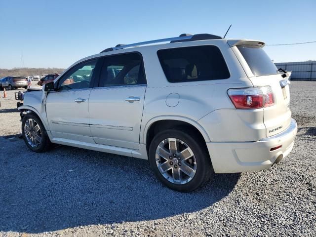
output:
[{"label": "white GMC Acadia SUV with damaged front end on gravel", "polygon": [[214,172],[269,168],[291,152],[297,125],[287,75],[264,45],[181,35],[81,59],[43,91],[25,93],[26,145],[149,159],[163,184],[184,192]]}]

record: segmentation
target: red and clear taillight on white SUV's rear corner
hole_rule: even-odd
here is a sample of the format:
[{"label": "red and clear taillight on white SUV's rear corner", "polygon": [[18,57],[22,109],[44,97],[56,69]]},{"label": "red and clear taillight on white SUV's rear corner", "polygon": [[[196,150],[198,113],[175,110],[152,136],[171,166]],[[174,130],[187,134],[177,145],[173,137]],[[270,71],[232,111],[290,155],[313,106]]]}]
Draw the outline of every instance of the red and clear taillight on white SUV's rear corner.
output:
[{"label": "red and clear taillight on white SUV's rear corner", "polygon": [[236,109],[258,109],[275,104],[270,86],[229,89],[227,93]]}]

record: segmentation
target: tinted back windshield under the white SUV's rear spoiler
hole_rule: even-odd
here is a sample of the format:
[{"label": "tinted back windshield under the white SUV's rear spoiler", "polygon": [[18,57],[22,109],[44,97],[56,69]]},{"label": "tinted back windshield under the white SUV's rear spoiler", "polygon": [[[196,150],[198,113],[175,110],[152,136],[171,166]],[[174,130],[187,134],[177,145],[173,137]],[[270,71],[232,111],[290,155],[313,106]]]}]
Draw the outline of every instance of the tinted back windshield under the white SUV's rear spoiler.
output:
[{"label": "tinted back windshield under the white SUV's rear spoiler", "polygon": [[237,48],[254,76],[277,74],[276,65],[261,47],[239,45]]}]

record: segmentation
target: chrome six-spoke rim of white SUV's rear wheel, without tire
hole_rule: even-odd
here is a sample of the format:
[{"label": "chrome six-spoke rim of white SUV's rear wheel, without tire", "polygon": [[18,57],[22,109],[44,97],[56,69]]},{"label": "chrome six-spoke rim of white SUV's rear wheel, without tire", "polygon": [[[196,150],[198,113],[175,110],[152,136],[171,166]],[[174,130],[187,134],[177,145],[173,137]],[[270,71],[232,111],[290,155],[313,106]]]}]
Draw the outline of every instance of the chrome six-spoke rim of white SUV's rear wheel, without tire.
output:
[{"label": "chrome six-spoke rim of white SUV's rear wheel, without tire", "polygon": [[160,174],[173,184],[189,183],[196,174],[197,160],[191,148],[180,139],[167,138],[156,149]]}]

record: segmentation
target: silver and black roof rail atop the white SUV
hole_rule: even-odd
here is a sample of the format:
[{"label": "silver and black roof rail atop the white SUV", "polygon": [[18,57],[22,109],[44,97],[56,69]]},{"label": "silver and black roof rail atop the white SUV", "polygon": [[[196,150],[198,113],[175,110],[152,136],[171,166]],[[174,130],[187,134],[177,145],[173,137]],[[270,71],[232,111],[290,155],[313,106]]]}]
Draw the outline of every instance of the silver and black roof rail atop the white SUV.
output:
[{"label": "silver and black roof rail atop the white SUV", "polygon": [[197,35],[181,34],[179,37],[173,37],[173,38],[166,38],[166,39],[160,39],[160,40],[149,40],[149,41],[131,43],[131,44],[118,44],[115,47],[104,49],[100,53],[109,52],[112,50],[123,49],[123,48],[136,47],[136,46],[145,45],[145,44],[166,42],[166,41],[170,41],[170,43],[175,43],[175,42],[184,42],[184,41],[215,40],[215,39],[222,39],[222,37],[210,35],[210,34],[197,34]]}]

